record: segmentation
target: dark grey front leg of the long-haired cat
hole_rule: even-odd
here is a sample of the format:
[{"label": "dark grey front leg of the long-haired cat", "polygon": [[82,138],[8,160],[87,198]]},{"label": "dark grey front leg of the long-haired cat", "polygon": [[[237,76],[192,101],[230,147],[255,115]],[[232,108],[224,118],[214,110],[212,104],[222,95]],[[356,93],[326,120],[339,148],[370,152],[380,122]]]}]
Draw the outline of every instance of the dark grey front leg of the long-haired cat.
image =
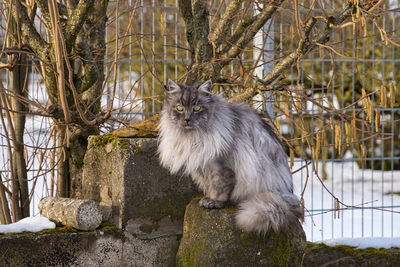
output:
[{"label": "dark grey front leg of the long-haired cat", "polygon": [[207,167],[208,188],[199,205],[207,209],[223,208],[235,187],[235,174],[222,161],[212,162]]}]

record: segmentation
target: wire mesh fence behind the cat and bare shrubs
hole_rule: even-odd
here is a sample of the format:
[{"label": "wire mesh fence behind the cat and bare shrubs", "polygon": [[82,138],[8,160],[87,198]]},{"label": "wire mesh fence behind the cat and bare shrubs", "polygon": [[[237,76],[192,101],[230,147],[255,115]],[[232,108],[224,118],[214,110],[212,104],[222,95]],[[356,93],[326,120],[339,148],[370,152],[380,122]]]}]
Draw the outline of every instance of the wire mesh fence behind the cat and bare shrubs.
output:
[{"label": "wire mesh fence behind the cat and bare shrubs", "polygon": [[[312,3],[305,1],[300,14],[324,16],[343,7],[341,1],[323,2],[320,8],[310,8]],[[168,78],[180,79],[187,71],[190,51],[177,6],[177,0],[110,2],[101,105],[103,110],[111,106],[113,115],[102,128],[104,132],[159,112],[163,84]],[[224,5],[212,1],[210,6],[213,20]],[[400,236],[396,227],[400,219],[400,106],[395,99],[400,49],[382,37],[399,37],[399,6],[399,1],[386,1],[386,13],[377,17],[376,23],[335,30],[329,47],[321,45],[288,72],[284,78],[288,94],[269,91],[263,95],[261,109],[268,111],[282,137],[293,146],[294,183],[298,195],[304,197],[304,229],[310,241]],[[230,64],[225,72],[240,77],[243,69],[252,69],[256,75],[265,75],[295,50],[297,23],[290,5],[279,9],[242,53],[240,64]],[[5,71],[0,75],[7,81]],[[224,84],[219,86],[223,93]],[[44,82],[33,65],[28,91],[32,101],[47,101]],[[379,93],[372,94],[375,91]],[[372,105],[371,114],[363,101],[357,102],[363,94],[370,95],[372,103],[379,103]],[[257,103],[256,98],[253,105],[259,108]],[[338,112],[329,112],[331,108]],[[354,125],[338,119],[340,116],[354,117]],[[306,129],[296,123],[300,120]],[[26,158],[35,214],[38,199],[54,194],[56,170],[52,166],[59,159],[51,120],[31,115],[27,122],[24,142],[31,145]],[[332,133],[320,131],[324,125],[331,127]],[[5,183],[10,169],[6,127],[5,123],[0,130],[0,167]],[[346,134],[350,128],[356,129],[355,140],[346,140],[351,138]],[[348,145],[337,149],[338,143],[346,141]]]}]

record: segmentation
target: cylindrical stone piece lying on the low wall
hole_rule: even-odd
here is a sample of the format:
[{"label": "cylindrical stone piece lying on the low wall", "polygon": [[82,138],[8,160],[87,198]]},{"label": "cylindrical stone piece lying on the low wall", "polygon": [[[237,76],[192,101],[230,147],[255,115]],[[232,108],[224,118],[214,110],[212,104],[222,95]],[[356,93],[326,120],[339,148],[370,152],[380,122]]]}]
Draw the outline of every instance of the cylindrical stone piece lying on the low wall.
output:
[{"label": "cylindrical stone piece lying on the low wall", "polygon": [[94,230],[102,220],[99,205],[93,200],[46,197],[39,202],[40,215],[56,223],[80,230]]}]

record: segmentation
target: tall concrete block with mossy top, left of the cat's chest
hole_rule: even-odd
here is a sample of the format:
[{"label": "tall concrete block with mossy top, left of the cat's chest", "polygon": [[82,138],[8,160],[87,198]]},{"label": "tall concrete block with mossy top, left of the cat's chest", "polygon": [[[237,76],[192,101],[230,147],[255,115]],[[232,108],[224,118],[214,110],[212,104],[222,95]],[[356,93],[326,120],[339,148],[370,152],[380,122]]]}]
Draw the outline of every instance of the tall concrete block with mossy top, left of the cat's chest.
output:
[{"label": "tall concrete block with mossy top, left of the cat's chest", "polygon": [[89,137],[79,197],[98,201],[103,216],[118,227],[135,227],[138,218],[151,221],[144,233],[156,231],[160,222],[179,226],[196,192],[190,177],[172,176],[160,166],[157,139]]}]

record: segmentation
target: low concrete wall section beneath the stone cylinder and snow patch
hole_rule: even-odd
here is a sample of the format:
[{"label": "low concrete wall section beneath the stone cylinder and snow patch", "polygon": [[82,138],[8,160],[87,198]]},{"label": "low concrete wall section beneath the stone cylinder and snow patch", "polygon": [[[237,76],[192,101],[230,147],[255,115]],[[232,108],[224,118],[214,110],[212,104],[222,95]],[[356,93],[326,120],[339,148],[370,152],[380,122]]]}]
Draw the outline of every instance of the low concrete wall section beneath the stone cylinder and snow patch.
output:
[{"label": "low concrete wall section beneath the stone cylinder and snow patch", "polygon": [[176,236],[141,240],[116,229],[0,234],[0,266],[174,266],[177,246]]}]

